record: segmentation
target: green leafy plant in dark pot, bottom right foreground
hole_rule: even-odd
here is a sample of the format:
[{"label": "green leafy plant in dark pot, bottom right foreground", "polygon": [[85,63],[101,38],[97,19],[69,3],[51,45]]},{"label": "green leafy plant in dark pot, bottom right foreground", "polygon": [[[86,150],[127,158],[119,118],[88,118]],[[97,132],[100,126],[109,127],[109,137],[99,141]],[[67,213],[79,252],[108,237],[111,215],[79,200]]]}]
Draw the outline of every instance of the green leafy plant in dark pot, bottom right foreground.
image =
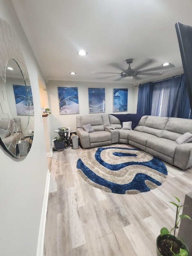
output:
[{"label": "green leafy plant in dark pot, bottom right foreground", "polygon": [[[182,218],[191,218],[186,214],[179,214],[181,208],[184,205],[180,205],[178,197],[174,196],[177,203],[169,202],[177,207],[175,226],[169,231],[167,227],[161,228],[161,234],[158,236],[156,241],[156,249],[158,256],[188,256],[189,251],[184,242],[175,236],[176,228],[178,228],[179,222]],[[171,232],[174,231],[172,235]]]}]

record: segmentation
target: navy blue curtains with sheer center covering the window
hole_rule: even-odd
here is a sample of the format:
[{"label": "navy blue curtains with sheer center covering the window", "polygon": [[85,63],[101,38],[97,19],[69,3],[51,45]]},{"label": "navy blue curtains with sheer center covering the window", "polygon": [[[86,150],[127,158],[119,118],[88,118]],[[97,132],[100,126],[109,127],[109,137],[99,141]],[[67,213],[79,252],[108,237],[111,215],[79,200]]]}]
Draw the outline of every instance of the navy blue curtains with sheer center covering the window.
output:
[{"label": "navy blue curtains with sheer center covering the window", "polygon": [[140,85],[137,113],[192,119],[184,74]]}]

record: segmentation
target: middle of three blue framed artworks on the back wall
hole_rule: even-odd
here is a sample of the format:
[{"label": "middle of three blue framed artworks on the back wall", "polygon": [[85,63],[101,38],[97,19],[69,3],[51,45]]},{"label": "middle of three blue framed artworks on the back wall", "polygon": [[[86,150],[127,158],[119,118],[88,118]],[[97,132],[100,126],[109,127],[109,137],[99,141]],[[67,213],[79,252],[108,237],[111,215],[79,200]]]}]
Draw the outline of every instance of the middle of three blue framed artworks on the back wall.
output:
[{"label": "middle of three blue framed artworks on the back wall", "polygon": [[88,88],[89,113],[105,112],[105,88]]}]

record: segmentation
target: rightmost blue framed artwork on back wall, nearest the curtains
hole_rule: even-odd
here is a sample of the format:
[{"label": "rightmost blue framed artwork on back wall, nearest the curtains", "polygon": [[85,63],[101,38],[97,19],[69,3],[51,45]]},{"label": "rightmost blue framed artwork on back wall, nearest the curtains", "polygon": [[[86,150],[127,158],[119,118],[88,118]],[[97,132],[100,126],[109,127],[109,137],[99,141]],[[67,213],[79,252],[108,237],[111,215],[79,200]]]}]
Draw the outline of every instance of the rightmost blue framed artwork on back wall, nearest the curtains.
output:
[{"label": "rightmost blue framed artwork on back wall, nearest the curtains", "polygon": [[113,89],[113,112],[127,111],[128,89]]}]

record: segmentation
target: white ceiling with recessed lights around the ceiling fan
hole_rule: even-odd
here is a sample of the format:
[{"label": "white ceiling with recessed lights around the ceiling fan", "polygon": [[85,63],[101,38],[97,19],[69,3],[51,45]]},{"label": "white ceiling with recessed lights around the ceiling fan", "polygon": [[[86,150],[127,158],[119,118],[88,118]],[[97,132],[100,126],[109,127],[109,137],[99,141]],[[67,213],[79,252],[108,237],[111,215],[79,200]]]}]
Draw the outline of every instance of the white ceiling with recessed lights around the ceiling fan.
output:
[{"label": "white ceiling with recessed lights around the ceiling fan", "polygon": [[[136,85],[183,73],[175,23],[192,26],[191,0],[12,2],[46,80]],[[88,55],[77,55],[80,49]],[[133,58],[131,68],[151,59],[154,62],[142,70],[164,62],[174,67],[159,70],[158,76],[137,76],[137,80],[114,81],[119,77],[92,73],[121,73],[112,63],[125,70],[129,58]],[[76,75],[70,75],[72,71]]]}]

